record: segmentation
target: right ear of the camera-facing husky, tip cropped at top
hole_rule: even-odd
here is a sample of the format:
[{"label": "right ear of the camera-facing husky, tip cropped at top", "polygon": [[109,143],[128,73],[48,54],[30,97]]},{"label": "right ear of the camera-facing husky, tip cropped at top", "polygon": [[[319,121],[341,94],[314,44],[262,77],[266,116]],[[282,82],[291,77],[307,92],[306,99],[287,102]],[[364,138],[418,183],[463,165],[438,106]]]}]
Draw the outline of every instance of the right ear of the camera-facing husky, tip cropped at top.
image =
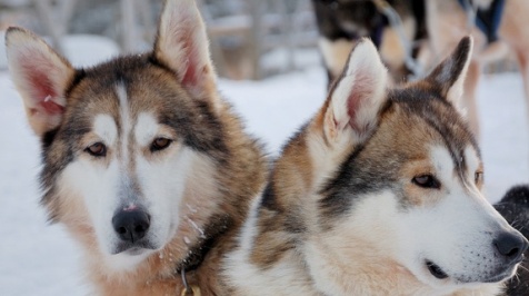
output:
[{"label": "right ear of the camera-facing husky, tip cropped at top", "polygon": [[154,57],[177,73],[191,93],[207,97],[214,91],[216,73],[206,27],[193,0],[167,0],[160,17]]}]

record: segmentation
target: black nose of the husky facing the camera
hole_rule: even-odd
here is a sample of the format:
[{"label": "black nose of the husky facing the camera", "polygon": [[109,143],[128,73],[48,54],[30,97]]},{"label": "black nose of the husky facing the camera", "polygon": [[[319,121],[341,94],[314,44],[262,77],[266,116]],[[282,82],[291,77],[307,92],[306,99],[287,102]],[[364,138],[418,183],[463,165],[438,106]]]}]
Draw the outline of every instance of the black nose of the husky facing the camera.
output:
[{"label": "black nose of the husky facing the camera", "polygon": [[146,236],[150,217],[143,210],[122,210],[112,217],[112,225],[122,240],[134,243]]}]

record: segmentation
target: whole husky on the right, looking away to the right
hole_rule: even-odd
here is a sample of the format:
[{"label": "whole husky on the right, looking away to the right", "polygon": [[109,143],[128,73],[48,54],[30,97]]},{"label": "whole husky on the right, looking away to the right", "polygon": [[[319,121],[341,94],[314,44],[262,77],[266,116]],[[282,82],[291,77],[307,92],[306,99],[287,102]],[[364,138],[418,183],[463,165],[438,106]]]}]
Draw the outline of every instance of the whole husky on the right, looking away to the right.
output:
[{"label": "whole husky on the right, looking away to the right", "polygon": [[528,241],[481,194],[456,108],[471,38],[427,78],[388,88],[362,39],[283,147],[224,260],[232,295],[498,295]]}]

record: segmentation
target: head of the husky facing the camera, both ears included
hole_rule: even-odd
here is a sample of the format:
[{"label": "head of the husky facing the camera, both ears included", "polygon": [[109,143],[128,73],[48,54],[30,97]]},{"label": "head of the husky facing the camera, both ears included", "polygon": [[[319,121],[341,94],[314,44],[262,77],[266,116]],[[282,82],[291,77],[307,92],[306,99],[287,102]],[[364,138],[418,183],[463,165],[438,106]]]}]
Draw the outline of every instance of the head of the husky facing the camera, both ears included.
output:
[{"label": "head of the husky facing the camera, both ears included", "polygon": [[201,199],[217,191],[224,106],[193,1],[166,2],[152,52],[93,68],[74,69],[20,28],[6,40],[13,82],[41,138],[42,203],[52,220],[109,256],[160,249],[186,220],[203,235],[203,221],[191,216],[217,207]]}]

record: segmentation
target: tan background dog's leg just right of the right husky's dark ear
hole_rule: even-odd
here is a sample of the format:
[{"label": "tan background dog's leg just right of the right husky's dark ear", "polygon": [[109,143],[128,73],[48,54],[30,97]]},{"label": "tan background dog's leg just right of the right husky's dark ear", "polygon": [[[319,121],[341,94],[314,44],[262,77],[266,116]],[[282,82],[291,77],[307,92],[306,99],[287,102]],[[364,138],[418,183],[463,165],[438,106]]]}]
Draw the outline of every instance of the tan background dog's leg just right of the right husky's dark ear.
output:
[{"label": "tan background dog's leg just right of the right husky's dark ear", "polygon": [[472,130],[478,140],[480,131],[476,89],[478,88],[480,75],[481,65],[479,61],[472,60],[468,67],[467,79],[465,80],[463,97],[461,100],[461,107],[467,111],[467,121],[470,126],[470,130]]}]

